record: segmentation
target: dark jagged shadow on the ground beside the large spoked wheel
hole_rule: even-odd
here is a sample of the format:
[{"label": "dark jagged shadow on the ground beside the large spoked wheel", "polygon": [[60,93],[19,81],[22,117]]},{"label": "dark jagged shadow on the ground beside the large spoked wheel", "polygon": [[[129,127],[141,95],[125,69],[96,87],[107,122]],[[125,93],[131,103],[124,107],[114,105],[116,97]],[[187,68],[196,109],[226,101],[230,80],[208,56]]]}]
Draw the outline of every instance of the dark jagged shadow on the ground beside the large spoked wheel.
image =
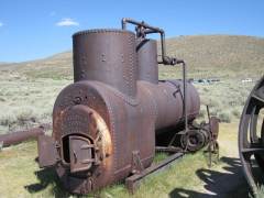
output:
[{"label": "dark jagged shadow on the ground beside the large spoked wheel", "polygon": [[169,197],[250,197],[250,189],[244,178],[239,158],[221,157],[226,173],[201,168],[197,176],[205,183],[207,193],[175,188]]}]

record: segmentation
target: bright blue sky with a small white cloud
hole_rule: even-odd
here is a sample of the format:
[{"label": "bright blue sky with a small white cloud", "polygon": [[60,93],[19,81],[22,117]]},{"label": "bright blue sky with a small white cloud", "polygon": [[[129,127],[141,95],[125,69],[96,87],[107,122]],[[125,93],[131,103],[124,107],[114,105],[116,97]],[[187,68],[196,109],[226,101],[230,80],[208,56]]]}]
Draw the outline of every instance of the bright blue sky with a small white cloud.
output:
[{"label": "bright blue sky with a small white cloud", "polygon": [[168,37],[264,36],[264,0],[1,0],[0,62],[69,51],[76,31],[120,28],[123,16],[161,26]]}]

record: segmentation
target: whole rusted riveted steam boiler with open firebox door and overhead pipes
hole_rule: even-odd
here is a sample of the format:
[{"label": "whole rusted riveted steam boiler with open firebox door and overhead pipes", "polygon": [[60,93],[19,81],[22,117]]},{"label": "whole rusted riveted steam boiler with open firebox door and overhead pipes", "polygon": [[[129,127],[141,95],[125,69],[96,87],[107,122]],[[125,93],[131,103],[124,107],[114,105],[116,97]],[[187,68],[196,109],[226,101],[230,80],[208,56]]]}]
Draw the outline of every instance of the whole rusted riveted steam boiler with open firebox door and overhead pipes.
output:
[{"label": "whole rusted riveted steam boiler with open firebox door and overhead pipes", "polygon": [[[153,33],[161,34],[161,61],[156,41],[146,38]],[[185,63],[166,56],[162,29],[123,19],[122,30],[81,31],[73,41],[75,82],[54,105],[53,135],[38,138],[41,167],[54,166],[67,190],[87,194],[132,175],[131,186],[217,138],[216,118],[194,124],[199,95]],[[157,64],[182,64],[183,80],[158,80]],[[155,148],[180,153],[153,167]]]}]

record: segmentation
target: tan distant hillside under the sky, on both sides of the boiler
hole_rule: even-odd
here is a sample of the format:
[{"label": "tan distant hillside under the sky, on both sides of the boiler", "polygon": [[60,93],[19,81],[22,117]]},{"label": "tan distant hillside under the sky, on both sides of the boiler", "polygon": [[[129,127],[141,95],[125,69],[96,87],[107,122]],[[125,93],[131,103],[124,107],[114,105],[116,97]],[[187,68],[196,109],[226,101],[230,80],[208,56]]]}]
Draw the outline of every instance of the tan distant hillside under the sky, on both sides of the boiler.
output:
[{"label": "tan distant hillside under the sky, on both sides of the boiler", "polygon": [[[190,77],[257,78],[264,73],[264,38],[237,35],[178,36],[168,38],[166,46],[169,55],[187,62]],[[18,69],[32,77],[68,78],[73,73],[73,55],[66,52],[1,68]],[[174,69],[162,66],[162,76],[166,76],[166,73],[172,76]]]}]

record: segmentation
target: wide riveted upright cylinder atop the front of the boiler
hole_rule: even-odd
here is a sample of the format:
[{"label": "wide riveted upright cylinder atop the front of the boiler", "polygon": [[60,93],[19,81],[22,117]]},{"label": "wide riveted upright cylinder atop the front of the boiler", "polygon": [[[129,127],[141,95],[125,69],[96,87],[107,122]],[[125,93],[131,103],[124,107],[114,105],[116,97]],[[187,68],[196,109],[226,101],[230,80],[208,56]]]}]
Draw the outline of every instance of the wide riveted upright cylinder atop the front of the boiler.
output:
[{"label": "wide riveted upright cylinder atop the front of the boiler", "polygon": [[124,30],[89,30],[73,35],[74,78],[97,80],[135,96],[135,35]]}]

